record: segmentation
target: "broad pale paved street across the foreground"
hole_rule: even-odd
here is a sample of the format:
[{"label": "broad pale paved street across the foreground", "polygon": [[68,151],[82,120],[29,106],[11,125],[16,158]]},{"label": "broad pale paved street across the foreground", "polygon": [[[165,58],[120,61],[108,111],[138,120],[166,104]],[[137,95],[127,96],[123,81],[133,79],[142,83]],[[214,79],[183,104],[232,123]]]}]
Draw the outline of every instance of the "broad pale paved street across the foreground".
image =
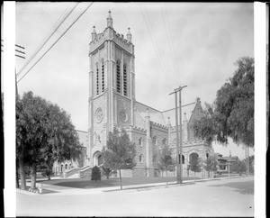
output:
[{"label": "broad pale paved street across the foreground", "polygon": [[254,216],[254,177],[149,190],[17,192],[18,216]]}]

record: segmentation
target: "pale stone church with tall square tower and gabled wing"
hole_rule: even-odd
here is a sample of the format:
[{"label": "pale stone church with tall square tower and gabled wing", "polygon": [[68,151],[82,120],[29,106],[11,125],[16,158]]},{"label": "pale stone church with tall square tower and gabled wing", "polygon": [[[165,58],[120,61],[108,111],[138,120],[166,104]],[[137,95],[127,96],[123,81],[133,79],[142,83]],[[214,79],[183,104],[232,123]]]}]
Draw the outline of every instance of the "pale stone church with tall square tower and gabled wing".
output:
[{"label": "pale stone church with tall square tower and gabled wing", "polygon": [[[123,170],[123,176],[154,177],[161,175],[157,168],[159,150],[168,144],[175,156],[175,125],[172,124],[175,113],[173,109],[161,112],[136,101],[131,39],[130,29],[126,39],[113,30],[111,13],[103,32],[97,34],[93,29],[89,44],[89,127],[85,165],[98,165],[108,132],[123,127],[136,144],[137,163],[132,170]],[[190,154],[196,152],[205,159],[206,153],[212,152],[210,146],[196,141],[193,136],[193,123],[201,116],[202,105],[198,98],[190,110],[185,109],[181,124],[185,170]]]}]

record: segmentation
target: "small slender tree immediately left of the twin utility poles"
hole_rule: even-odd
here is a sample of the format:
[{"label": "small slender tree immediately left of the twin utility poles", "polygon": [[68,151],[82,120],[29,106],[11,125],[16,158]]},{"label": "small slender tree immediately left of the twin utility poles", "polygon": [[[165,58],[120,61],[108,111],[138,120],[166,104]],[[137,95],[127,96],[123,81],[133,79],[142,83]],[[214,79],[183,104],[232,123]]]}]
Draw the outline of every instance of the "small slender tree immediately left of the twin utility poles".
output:
[{"label": "small slender tree immediately left of the twin utility poles", "polygon": [[168,145],[165,145],[160,152],[158,168],[161,170],[166,170],[167,184],[167,171],[173,171],[175,168],[175,159],[172,158],[172,150]]}]

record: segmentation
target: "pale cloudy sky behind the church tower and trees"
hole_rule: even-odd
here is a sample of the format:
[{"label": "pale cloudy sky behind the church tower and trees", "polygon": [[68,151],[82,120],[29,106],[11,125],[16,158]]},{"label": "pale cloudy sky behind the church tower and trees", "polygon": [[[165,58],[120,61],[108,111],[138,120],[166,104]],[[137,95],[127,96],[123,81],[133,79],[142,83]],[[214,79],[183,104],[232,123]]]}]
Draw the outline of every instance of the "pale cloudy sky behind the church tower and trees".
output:
[{"label": "pale cloudy sky behind the church tower and trees", "polygon": [[[175,106],[169,93],[178,86],[186,86],[183,104],[194,102],[196,97],[200,97],[202,107],[205,102],[212,104],[218,89],[233,76],[236,60],[254,57],[252,3],[94,3],[40,59],[89,4],[78,4],[23,68],[59,18],[76,3],[16,3],[15,42],[26,53],[26,59],[16,59],[19,94],[32,91],[58,104],[70,114],[77,130],[87,131],[91,32],[93,26],[97,33],[103,32],[109,10],[116,32],[126,38],[130,27],[135,46],[136,100],[160,111]],[[245,158],[242,146],[232,141],[227,147],[213,143],[213,148],[224,156],[230,150],[232,156]]]}]

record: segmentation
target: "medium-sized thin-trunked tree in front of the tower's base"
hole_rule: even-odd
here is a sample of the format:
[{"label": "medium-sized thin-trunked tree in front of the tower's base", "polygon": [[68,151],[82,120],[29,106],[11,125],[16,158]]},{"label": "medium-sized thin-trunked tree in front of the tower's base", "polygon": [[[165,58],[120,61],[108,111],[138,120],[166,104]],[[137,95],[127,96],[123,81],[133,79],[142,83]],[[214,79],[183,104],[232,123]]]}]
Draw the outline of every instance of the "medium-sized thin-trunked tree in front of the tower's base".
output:
[{"label": "medium-sized thin-trunked tree in front of the tower's base", "polygon": [[134,161],[136,156],[135,143],[130,141],[130,137],[124,129],[121,129],[120,132],[115,128],[113,132],[109,132],[107,147],[103,147],[102,156],[107,168],[119,170],[122,189],[121,169],[133,168],[136,165]]}]

